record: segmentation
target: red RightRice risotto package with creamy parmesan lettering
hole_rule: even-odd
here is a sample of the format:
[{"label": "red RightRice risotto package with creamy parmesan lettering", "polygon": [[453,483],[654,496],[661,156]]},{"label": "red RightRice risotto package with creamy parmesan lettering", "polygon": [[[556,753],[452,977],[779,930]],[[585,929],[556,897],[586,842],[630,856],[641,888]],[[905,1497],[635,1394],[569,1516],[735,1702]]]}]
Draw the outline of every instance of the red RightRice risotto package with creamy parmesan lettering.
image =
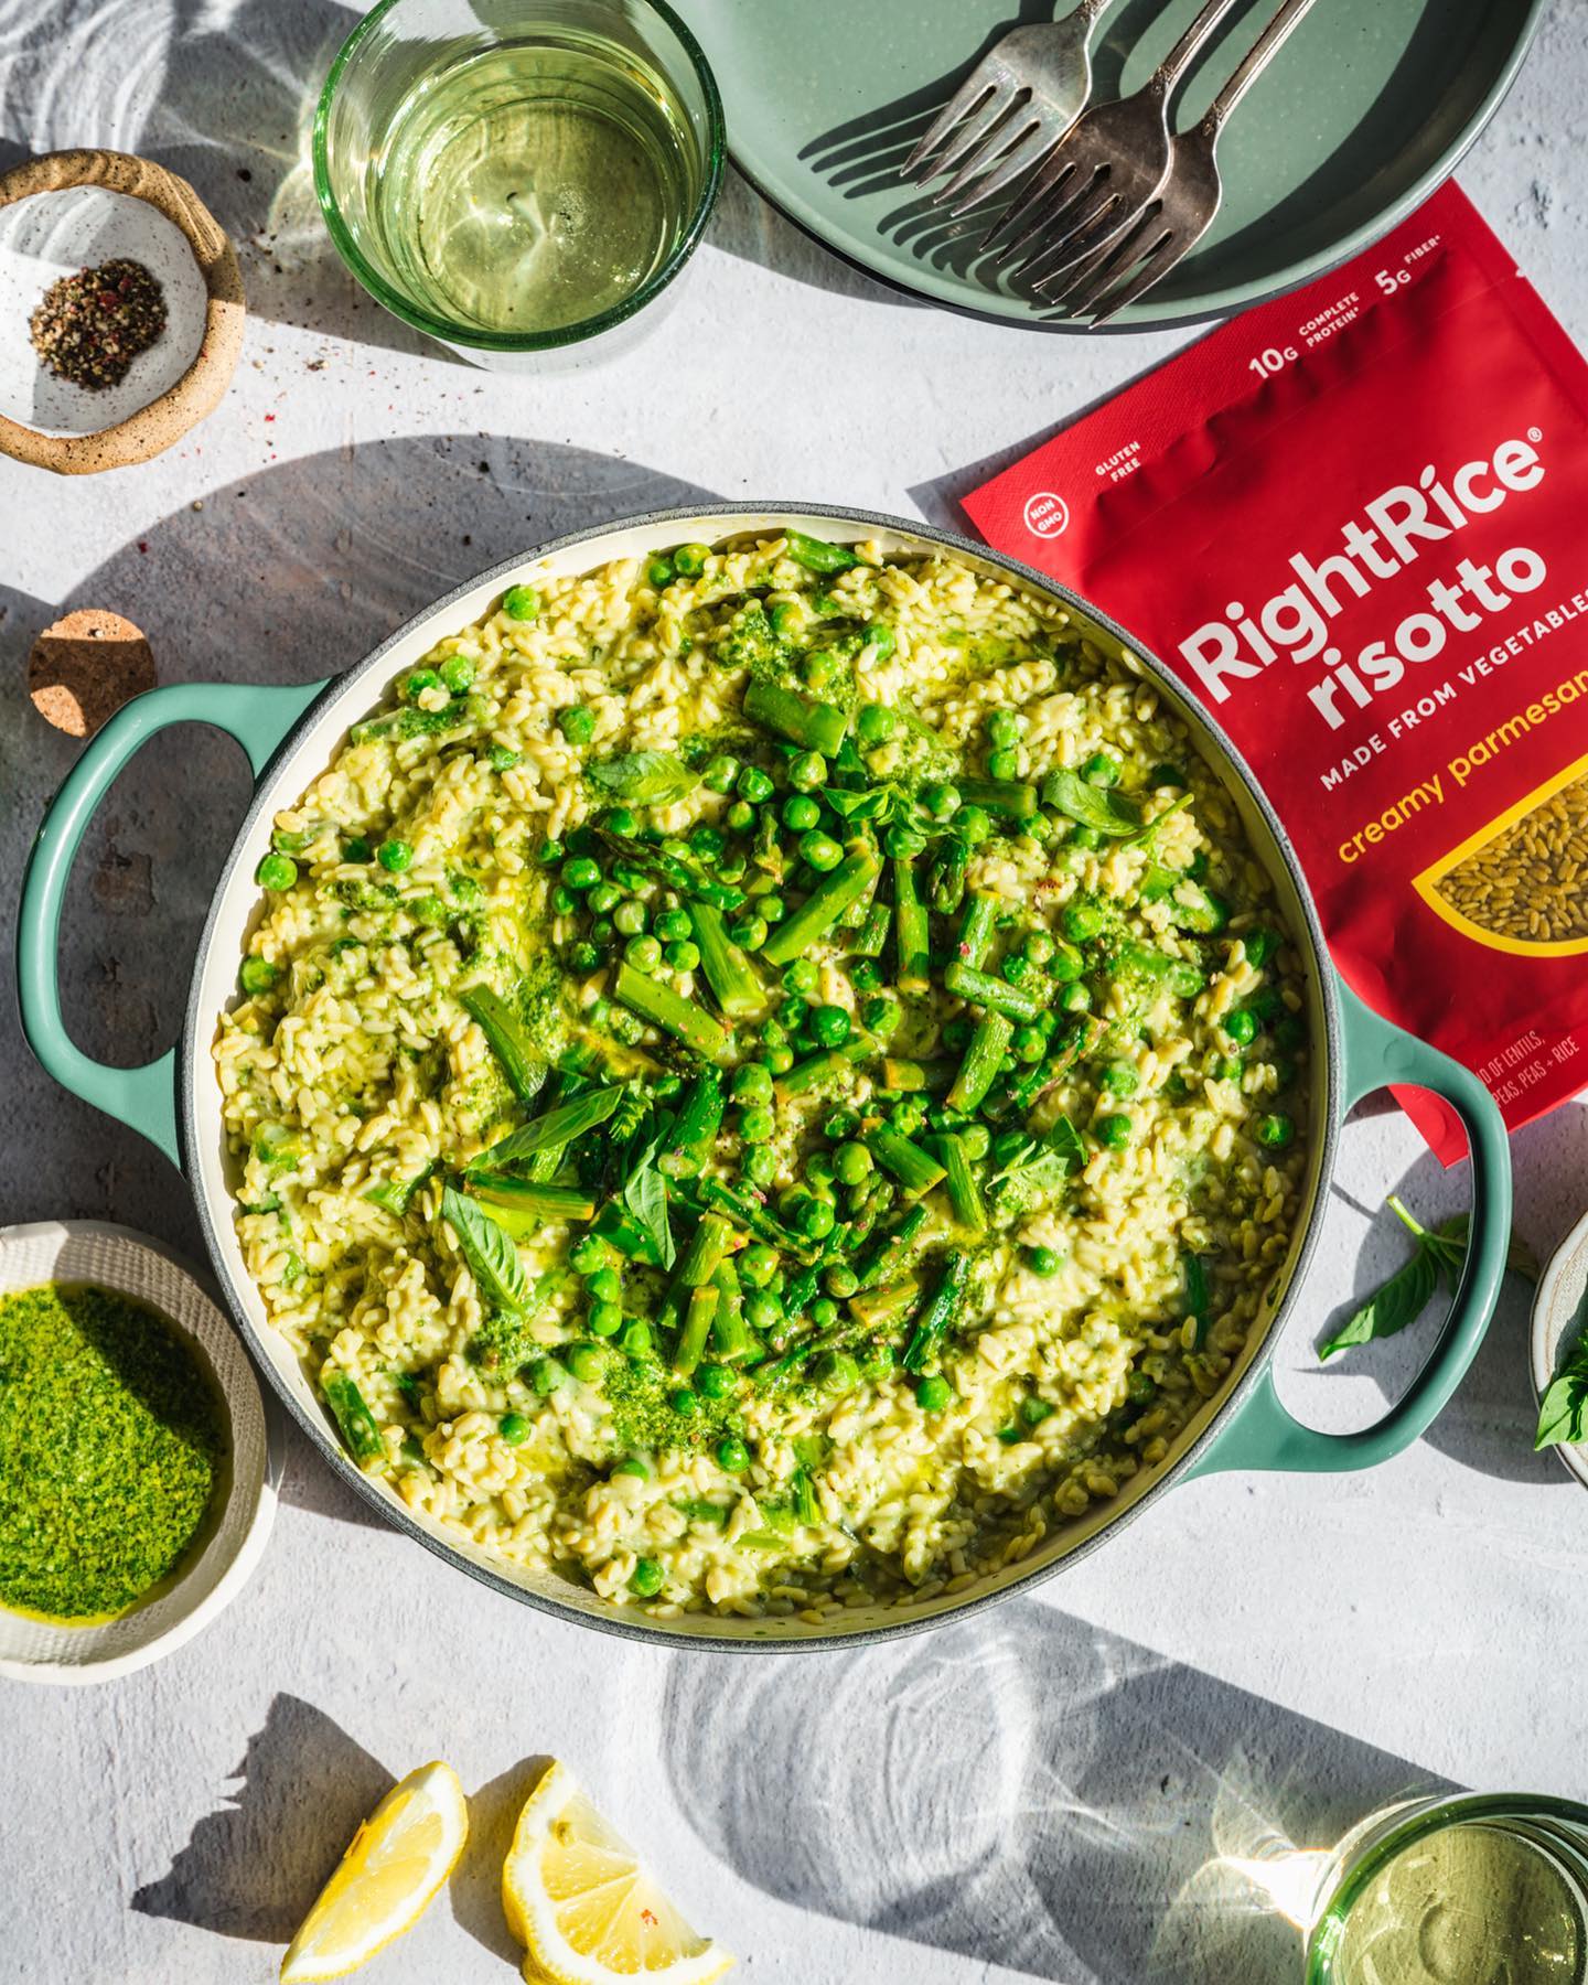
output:
[{"label": "red RightRice risotto package with creamy parmesan lettering", "polygon": [[[1465,195],[967,510],[1235,738],[1368,1004],[1511,1127],[1588,1082],[1588,365]],[[1465,1151],[1445,1104],[1401,1104]]]}]

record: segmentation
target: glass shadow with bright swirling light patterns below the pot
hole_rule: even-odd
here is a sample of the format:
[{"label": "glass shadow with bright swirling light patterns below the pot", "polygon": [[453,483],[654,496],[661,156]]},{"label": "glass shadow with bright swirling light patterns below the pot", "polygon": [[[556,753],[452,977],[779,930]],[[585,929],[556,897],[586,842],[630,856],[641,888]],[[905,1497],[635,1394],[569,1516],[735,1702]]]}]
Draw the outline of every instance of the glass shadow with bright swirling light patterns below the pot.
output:
[{"label": "glass shadow with bright swirling light patterns below the pot", "polygon": [[816,1663],[693,1655],[665,1761],[768,1894],[1064,1985],[1294,1975],[1318,1850],[1443,1785],[1036,1602]]}]

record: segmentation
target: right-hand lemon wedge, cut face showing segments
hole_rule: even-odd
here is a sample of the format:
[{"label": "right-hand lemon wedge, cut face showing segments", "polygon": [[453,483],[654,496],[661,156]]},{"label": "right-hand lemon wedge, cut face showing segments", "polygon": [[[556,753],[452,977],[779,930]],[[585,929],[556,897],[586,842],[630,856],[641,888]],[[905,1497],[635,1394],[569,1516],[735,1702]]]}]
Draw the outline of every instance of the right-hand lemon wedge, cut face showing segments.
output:
[{"label": "right-hand lemon wedge, cut face showing segments", "polygon": [[679,1916],[566,1765],[552,1765],[524,1800],[502,1864],[502,1910],[528,1949],[532,1985],[705,1985],[732,1967]]}]

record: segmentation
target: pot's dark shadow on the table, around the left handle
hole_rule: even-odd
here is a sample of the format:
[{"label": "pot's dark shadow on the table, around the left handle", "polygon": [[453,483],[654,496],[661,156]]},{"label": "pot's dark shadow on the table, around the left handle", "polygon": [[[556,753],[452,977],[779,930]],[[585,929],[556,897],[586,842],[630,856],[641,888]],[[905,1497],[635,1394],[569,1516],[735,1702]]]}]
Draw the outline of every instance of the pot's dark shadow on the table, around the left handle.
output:
[{"label": "pot's dark shadow on the table, around the left handle", "polygon": [[[0,669],[26,671],[34,635],[66,605],[115,607],[149,635],[165,683],[292,683],[359,661],[419,607],[562,532],[711,492],[556,443],[478,435],[371,441],[206,492],[113,552],[67,601],[0,588]],[[28,846],[79,746],[24,705],[0,728],[0,931],[16,917]],[[93,818],[67,891],[60,977],[77,1044],[151,1060],[181,1026],[189,961],[250,792],[214,730],[157,736]],[[202,1255],[175,1171],[133,1131],[66,1096],[0,1000],[0,1066],[26,1173],[0,1219],[119,1219]]]}]

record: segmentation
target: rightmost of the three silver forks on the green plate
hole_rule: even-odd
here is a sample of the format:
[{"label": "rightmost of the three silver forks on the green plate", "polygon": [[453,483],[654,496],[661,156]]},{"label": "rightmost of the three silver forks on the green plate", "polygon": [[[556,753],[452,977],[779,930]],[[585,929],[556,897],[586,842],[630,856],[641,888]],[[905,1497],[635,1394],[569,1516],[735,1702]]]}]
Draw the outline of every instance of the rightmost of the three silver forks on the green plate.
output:
[{"label": "rightmost of the three silver forks on the green plate", "polygon": [[1135,226],[1124,238],[1090,250],[1068,276],[1050,274],[1040,282],[1036,288],[1046,302],[1060,304],[1066,316],[1092,314],[1094,324],[1108,324],[1197,246],[1213,226],[1223,198],[1215,161],[1219,133],[1312,4],[1314,0],[1282,0],[1235,75],[1209,103],[1203,121],[1171,141],[1169,171]]}]

